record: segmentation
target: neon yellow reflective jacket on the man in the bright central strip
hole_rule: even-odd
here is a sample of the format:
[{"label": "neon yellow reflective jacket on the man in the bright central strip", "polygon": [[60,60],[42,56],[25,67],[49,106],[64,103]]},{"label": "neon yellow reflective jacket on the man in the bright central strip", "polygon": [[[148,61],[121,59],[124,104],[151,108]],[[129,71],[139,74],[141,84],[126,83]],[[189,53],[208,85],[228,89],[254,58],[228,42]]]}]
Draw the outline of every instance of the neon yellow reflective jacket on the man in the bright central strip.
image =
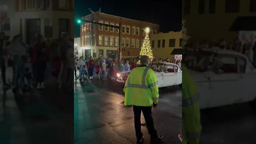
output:
[{"label": "neon yellow reflective jacket on the man in the bright central strip", "polygon": [[134,68],[127,77],[124,87],[124,105],[152,106],[158,103],[158,79],[146,65]]}]

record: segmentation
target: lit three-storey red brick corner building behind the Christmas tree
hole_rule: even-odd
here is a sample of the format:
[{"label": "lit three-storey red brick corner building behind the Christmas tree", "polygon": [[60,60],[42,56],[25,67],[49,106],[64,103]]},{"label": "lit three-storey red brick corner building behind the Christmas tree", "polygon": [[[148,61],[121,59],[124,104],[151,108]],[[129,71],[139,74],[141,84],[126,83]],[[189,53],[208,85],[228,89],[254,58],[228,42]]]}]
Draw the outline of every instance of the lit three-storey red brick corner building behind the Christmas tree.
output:
[{"label": "lit three-storey red brick corner building behind the Christmas tree", "polygon": [[[149,22],[132,20],[115,15],[95,12],[82,17],[83,20],[106,23],[108,25],[119,26],[121,23],[121,47],[125,49],[122,57],[136,57],[140,53],[145,32],[143,29],[150,28],[151,34],[159,32],[159,25]],[[81,48],[83,55],[88,58],[92,55],[98,58],[99,55],[118,57],[117,48],[119,44],[119,31],[102,25],[83,22],[81,24]]]}]

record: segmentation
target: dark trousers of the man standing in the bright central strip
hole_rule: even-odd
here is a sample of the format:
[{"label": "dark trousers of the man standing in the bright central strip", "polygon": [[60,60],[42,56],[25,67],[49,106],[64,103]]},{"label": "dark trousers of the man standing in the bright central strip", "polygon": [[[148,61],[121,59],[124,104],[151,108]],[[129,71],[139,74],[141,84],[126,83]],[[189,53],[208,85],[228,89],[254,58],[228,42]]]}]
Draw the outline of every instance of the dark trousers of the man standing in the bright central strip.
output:
[{"label": "dark trousers of the man standing in the bright central strip", "polygon": [[148,133],[150,134],[150,137],[153,139],[156,138],[157,133],[154,127],[151,107],[133,106],[134,126],[135,126],[137,139],[141,139],[143,135],[141,132],[141,122],[140,122],[141,111],[143,113],[143,116],[145,117]]}]

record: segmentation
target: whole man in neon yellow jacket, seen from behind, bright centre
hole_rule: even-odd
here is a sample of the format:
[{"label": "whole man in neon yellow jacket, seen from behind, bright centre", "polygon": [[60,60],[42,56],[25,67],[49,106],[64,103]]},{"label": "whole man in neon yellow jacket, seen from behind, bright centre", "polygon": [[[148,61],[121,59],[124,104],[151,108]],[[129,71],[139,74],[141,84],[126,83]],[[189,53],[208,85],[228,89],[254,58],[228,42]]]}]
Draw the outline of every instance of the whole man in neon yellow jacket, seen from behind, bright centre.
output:
[{"label": "whole man in neon yellow jacket, seen from behind, bright centre", "polygon": [[143,143],[140,122],[141,111],[145,117],[151,141],[161,143],[163,135],[157,135],[151,111],[151,107],[153,106],[155,108],[158,103],[158,79],[154,71],[148,68],[148,56],[142,55],[140,63],[141,65],[132,69],[126,79],[124,86],[124,105],[133,106],[137,143]]}]

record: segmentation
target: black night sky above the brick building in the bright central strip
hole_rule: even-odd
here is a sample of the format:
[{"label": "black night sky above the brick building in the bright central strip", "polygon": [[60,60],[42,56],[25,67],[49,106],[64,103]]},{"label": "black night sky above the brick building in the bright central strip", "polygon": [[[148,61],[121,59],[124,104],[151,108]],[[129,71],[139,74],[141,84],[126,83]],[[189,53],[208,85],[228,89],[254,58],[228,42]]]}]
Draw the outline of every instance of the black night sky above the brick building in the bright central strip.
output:
[{"label": "black night sky above the brick building in the bright central strip", "polygon": [[[75,19],[90,14],[101,7],[102,13],[117,15],[160,25],[160,32],[181,30],[181,0],[137,1],[98,1],[75,0]],[[79,25],[75,23],[75,37],[79,37]]]}]

